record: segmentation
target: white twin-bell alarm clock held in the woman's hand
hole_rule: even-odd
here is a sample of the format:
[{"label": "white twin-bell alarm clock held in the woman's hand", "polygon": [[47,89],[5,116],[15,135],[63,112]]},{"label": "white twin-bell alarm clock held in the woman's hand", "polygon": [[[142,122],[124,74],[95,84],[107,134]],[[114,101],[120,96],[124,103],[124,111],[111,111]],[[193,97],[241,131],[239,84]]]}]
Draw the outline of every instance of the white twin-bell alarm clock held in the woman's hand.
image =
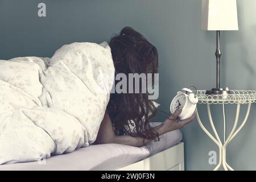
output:
[{"label": "white twin-bell alarm clock held in the woman's hand", "polygon": [[180,119],[187,119],[196,110],[196,104],[198,102],[197,96],[192,92],[191,89],[183,88],[180,92],[177,92],[177,95],[171,102],[170,111],[172,114],[181,108],[182,111],[179,115]]}]

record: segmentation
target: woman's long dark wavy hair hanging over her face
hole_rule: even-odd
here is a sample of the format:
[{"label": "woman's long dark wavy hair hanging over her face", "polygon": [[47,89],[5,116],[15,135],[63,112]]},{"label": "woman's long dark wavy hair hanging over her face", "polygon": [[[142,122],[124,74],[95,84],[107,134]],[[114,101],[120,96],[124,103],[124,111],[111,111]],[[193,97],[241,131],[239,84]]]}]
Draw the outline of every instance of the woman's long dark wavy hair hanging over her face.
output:
[{"label": "woman's long dark wavy hair hanging over her face", "polygon": [[[123,28],[119,35],[110,40],[109,46],[115,74],[125,73],[128,80],[129,73],[153,73],[154,77],[154,73],[158,72],[158,51],[133,28]],[[117,82],[115,81],[115,84]],[[148,100],[148,92],[112,93],[107,110],[117,134],[121,132],[133,137],[159,139],[158,133],[149,124],[157,110],[153,101]],[[133,130],[129,124],[135,125]]]}]

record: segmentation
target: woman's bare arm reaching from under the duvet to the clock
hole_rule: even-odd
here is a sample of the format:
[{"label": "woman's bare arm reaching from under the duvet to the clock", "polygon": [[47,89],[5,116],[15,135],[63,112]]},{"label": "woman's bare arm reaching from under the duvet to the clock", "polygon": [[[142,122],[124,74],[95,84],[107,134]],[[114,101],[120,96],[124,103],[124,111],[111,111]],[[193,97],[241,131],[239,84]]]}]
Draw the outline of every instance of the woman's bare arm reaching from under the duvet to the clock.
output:
[{"label": "woman's bare arm reaching from under the duvet to the clock", "polygon": [[[163,135],[170,131],[174,131],[174,130],[180,129],[181,127],[184,127],[189,122],[193,121],[193,119],[196,117],[196,111],[195,111],[195,113],[190,118],[177,122],[177,118],[180,115],[181,111],[182,111],[181,109],[176,110],[175,113],[172,114],[170,117],[168,117],[166,121],[164,121],[161,125],[154,127],[155,131],[159,135]],[[98,131],[97,139],[94,143],[96,144],[119,143],[119,144],[126,144],[129,146],[141,147],[150,141],[151,141],[150,139],[145,139],[141,137],[131,137],[129,135],[122,135],[122,136],[115,135],[113,126],[112,126],[112,121],[109,117],[109,114],[105,113],[104,118],[101,122],[100,129]]]}]

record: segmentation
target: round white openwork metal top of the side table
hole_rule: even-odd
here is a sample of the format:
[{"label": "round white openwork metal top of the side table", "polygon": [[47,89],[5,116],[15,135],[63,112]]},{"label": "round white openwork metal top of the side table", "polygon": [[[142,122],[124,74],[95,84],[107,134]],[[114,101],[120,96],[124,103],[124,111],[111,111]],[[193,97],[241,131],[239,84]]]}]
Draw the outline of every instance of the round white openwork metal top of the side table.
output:
[{"label": "round white openwork metal top of the side table", "polygon": [[249,104],[256,102],[255,90],[229,90],[230,94],[205,94],[207,90],[195,91],[198,104]]}]

